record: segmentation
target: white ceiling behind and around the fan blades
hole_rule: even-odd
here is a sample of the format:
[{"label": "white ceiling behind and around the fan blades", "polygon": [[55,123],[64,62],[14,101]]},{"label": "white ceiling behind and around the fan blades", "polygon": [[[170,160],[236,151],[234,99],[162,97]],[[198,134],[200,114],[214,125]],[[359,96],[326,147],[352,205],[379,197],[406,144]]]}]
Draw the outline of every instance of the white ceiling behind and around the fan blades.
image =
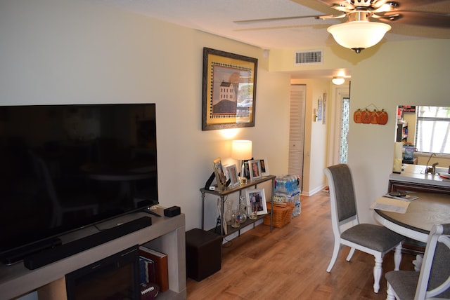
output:
[{"label": "white ceiling behind and around the fan blades", "polygon": [[[237,24],[236,20],[336,14],[316,0],[89,0],[141,13],[152,18],[258,46],[276,48],[323,48],[335,41],[326,29],[345,19],[293,20]],[[402,0],[397,0],[402,1]],[[409,0],[403,0],[409,1]],[[428,6],[429,8],[429,6]],[[440,1],[429,10],[450,13],[450,0]],[[425,11],[418,8],[418,11]],[[437,29],[415,25],[392,25],[386,41],[407,39],[450,39],[450,27]]]}]

